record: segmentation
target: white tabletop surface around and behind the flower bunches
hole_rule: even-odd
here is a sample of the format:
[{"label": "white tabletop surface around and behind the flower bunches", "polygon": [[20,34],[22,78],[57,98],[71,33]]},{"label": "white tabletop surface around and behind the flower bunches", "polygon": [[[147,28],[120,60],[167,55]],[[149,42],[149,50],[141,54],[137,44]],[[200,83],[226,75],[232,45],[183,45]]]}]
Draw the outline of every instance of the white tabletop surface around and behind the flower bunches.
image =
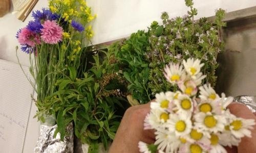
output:
[{"label": "white tabletop surface around and behind the flower bunches", "polygon": [[[183,0],[88,0],[87,2],[97,14],[93,24],[94,44],[123,38],[137,30],[146,29],[153,20],[160,21],[163,11],[168,12],[170,17],[183,16],[187,11]],[[256,6],[255,0],[194,0],[194,3],[194,7],[198,9],[197,18],[212,16],[217,8],[230,12]],[[34,9],[47,7],[47,4],[47,0],[39,0]],[[32,17],[28,17],[22,22],[11,13],[0,18],[0,59],[17,62],[15,46],[18,42],[15,34],[31,19]],[[27,54],[18,52],[18,56],[23,65],[29,66]],[[34,116],[35,111],[36,108],[33,107],[31,116]],[[33,152],[39,133],[36,119],[30,118],[28,128],[24,152]]]}]

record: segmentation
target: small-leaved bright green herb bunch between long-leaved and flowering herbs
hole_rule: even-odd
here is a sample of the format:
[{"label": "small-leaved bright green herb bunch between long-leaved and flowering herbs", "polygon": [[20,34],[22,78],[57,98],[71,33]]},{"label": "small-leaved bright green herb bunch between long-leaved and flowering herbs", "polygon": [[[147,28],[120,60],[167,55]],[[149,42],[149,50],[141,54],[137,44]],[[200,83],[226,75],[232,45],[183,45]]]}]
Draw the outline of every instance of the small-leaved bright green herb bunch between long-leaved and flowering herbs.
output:
[{"label": "small-leaved bright green herb bunch between long-leaved and flowering herbs", "polygon": [[148,61],[144,58],[148,45],[148,33],[138,31],[132,34],[130,39],[110,46],[110,52],[115,52],[121,73],[129,84],[127,89],[141,103],[150,100],[150,95],[147,94],[150,69]]}]

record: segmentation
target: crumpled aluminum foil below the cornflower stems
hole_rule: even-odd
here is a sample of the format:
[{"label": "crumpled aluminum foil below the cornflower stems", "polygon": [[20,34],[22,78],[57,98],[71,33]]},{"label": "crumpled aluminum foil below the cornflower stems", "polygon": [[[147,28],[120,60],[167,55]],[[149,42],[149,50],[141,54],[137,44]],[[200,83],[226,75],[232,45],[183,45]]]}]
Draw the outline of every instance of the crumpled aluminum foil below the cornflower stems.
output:
[{"label": "crumpled aluminum foil below the cornflower stems", "polygon": [[73,124],[70,123],[67,130],[67,135],[64,140],[60,140],[60,134],[56,135],[56,138],[53,137],[54,132],[56,131],[57,124],[54,126],[49,125],[40,125],[40,136],[37,140],[36,147],[34,152],[36,153],[73,153],[74,147],[74,135],[73,135]]}]

